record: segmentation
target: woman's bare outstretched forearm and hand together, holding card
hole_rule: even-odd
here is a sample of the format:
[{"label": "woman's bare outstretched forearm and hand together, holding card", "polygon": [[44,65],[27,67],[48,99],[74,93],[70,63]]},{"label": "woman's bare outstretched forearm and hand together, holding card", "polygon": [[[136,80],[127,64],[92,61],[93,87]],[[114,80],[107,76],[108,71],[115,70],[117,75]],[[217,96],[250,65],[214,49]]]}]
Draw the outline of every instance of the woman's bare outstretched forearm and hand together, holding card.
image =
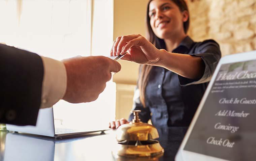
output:
[{"label": "woman's bare outstretched forearm and hand together, holding card", "polygon": [[141,35],[118,37],[113,43],[110,56],[120,54],[125,54],[123,60],[161,66],[189,79],[201,78],[205,70],[201,57],[159,50]]}]

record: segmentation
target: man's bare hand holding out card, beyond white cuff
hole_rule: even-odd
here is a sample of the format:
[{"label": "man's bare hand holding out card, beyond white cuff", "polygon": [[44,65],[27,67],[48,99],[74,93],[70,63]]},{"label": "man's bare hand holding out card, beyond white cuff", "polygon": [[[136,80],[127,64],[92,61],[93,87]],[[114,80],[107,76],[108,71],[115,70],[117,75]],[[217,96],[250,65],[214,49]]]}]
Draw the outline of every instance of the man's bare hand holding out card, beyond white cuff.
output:
[{"label": "man's bare hand holding out card, beyond white cuff", "polygon": [[98,98],[121,65],[104,56],[73,57],[62,60],[67,72],[67,89],[63,100],[70,103],[91,102]]}]

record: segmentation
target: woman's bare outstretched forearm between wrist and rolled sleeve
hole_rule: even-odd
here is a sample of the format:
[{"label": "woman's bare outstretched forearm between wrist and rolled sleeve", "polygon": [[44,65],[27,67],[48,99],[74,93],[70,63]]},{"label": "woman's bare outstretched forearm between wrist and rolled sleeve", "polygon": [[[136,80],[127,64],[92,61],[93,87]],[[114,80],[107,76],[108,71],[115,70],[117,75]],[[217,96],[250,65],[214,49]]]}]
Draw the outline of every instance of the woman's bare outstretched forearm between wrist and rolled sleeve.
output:
[{"label": "woman's bare outstretched forearm between wrist and rolled sleeve", "polygon": [[164,67],[189,79],[202,77],[205,64],[201,57],[171,53],[164,49],[161,49],[159,52],[159,60],[154,65]]}]

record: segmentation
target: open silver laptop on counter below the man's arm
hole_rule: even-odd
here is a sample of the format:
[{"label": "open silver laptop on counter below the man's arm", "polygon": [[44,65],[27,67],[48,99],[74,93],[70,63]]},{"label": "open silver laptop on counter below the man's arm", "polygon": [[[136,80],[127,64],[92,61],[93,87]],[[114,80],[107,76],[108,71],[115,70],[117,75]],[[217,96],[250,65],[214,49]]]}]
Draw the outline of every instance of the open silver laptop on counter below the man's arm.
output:
[{"label": "open silver laptop on counter below the man's arm", "polygon": [[42,136],[49,136],[55,138],[62,138],[67,136],[73,135],[82,135],[85,133],[91,132],[104,132],[109,130],[106,128],[106,125],[102,125],[102,127],[94,126],[87,124],[88,126],[84,129],[72,129],[67,128],[64,125],[60,125],[55,127],[54,124],[54,114],[53,114],[53,107],[50,108],[43,108],[39,109],[36,126],[26,125],[26,126],[18,126],[18,125],[11,125],[6,124],[6,129],[9,131],[16,131],[16,132],[24,132],[24,133],[31,133],[36,135]]}]

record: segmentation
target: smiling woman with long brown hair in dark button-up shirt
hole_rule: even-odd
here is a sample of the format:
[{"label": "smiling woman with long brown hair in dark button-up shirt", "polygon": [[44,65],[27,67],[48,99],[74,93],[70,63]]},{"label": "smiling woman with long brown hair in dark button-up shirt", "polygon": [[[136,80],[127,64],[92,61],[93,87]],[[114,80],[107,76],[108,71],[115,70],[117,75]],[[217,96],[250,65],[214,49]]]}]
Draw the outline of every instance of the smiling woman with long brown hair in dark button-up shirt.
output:
[{"label": "smiling woman with long brown hair in dark button-up shirt", "polygon": [[[118,37],[110,55],[140,65],[133,110],[155,126],[189,126],[207,82],[221,58],[214,40],[194,42],[186,35],[189,11],[184,0],[150,0],[148,40],[141,35]],[[133,118],[132,114],[129,121]],[[115,129],[125,119],[109,123]]]}]

